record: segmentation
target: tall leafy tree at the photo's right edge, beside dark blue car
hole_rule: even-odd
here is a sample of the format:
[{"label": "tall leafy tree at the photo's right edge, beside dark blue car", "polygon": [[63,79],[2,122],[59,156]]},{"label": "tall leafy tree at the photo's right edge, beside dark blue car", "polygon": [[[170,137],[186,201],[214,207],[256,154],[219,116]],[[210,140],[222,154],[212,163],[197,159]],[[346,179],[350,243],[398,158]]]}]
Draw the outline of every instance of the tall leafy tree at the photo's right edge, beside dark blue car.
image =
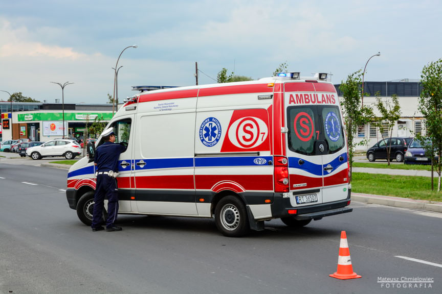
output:
[{"label": "tall leafy tree at the photo's right edge, beside dark blue car", "polygon": [[[425,117],[426,137],[416,134],[416,137],[424,144],[424,148],[439,156],[436,163],[438,174],[437,191],[440,191],[440,171],[442,155],[442,59],[430,62],[422,69],[421,75],[422,92],[419,98],[419,110]],[[429,146],[431,145],[431,146]],[[434,153],[431,155],[433,158]]]}]

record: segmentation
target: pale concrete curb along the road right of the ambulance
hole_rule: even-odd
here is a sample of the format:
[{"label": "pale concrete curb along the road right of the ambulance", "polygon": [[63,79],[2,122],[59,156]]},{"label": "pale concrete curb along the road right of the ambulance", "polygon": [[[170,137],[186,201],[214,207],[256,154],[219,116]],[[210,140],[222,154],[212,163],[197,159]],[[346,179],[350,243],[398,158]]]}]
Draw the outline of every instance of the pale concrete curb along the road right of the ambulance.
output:
[{"label": "pale concrete curb along the road right of the ambulance", "polygon": [[418,210],[426,210],[426,211],[442,213],[441,202],[413,200],[408,198],[362,194],[362,193],[351,193],[351,200],[367,204],[380,204],[386,206],[418,209]]}]

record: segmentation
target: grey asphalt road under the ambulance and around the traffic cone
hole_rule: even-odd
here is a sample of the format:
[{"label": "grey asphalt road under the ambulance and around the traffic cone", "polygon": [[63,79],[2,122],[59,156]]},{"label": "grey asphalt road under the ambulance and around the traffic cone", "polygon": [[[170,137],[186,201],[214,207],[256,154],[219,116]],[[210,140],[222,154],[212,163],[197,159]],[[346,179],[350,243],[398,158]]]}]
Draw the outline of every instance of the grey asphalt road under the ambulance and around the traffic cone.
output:
[{"label": "grey asphalt road under the ambulance and around the traffic cone", "polygon": [[[442,292],[440,213],[353,202],[301,230],[272,220],[243,238],[179,217],[120,216],[123,231],[92,232],[68,206],[66,175],[0,161],[0,293]],[[341,230],[360,279],[328,276]]]}]

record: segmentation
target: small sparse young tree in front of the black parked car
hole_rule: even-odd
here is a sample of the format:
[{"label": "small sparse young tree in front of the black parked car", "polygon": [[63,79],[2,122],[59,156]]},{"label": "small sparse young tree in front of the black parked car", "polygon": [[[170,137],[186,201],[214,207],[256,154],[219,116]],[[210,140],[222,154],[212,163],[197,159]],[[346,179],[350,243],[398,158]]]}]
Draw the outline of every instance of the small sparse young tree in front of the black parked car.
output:
[{"label": "small sparse young tree in front of the black parked car", "polygon": [[[382,139],[385,140],[384,134],[391,135],[393,133],[393,127],[396,125],[396,122],[399,118],[401,118],[401,106],[399,105],[399,99],[397,99],[397,95],[391,95],[391,101],[386,97],[384,101],[382,101],[379,92],[376,93],[376,108],[378,108],[380,112],[380,116],[376,117],[372,124],[379,129],[381,133]],[[390,165],[390,152],[391,152],[391,142],[389,140],[389,144],[387,146],[387,163]]]}]

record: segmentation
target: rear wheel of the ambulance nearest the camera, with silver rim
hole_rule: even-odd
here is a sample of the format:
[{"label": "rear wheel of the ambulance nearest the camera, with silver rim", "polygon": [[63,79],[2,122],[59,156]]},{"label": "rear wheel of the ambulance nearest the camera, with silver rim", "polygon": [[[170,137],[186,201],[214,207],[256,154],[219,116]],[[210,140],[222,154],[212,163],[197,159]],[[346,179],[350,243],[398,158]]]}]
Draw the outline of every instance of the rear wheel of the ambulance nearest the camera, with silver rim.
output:
[{"label": "rear wheel of the ambulance nearest the camera, with silver rim", "polygon": [[238,198],[229,195],[221,199],[215,208],[215,224],[227,237],[241,237],[249,232],[246,206]]}]

